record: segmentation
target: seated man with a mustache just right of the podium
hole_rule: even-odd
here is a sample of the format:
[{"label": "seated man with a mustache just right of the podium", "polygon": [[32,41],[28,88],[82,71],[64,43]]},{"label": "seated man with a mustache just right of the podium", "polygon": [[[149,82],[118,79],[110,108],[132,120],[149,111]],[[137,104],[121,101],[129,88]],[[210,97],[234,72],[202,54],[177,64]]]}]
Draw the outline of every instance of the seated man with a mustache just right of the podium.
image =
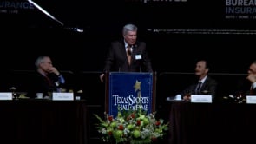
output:
[{"label": "seated man with a mustache just right of the podium", "polygon": [[190,95],[212,95],[217,91],[217,82],[208,75],[209,67],[206,60],[200,60],[195,66],[196,80],[181,92],[184,101],[190,101]]}]

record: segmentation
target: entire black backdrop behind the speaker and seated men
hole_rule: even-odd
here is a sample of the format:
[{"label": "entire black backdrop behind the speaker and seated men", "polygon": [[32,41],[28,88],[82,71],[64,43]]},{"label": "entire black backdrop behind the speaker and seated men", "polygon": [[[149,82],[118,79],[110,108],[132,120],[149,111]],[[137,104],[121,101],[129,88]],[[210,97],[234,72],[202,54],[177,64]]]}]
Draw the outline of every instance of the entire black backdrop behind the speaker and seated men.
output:
[{"label": "entire black backdrop behind the speaker and seated men", "polygon": [[6,69],[34,69],[36,56],[49,55],[58,69],[101,71],[108,44],[121,38],[126,23],[139,27],[157,72],[193,72],[196,60],[207,57],[212,72],[244,73],[256,59],[254,13],[227,14],[228,1],[32,2],[47,13],[28,1],[0,1]]}]

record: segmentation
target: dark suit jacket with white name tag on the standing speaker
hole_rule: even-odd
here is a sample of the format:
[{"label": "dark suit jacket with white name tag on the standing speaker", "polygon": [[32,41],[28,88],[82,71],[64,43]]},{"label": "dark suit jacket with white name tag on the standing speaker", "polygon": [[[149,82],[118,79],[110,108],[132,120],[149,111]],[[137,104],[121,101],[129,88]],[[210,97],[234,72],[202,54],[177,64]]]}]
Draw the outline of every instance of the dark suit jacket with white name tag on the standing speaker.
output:
[{"label": "dark suit jacket with white name tag on the standing speaker", "polygon": [[137,42],[132,49],[131,64],[129,65],[124,42],[112,42],[108,49],[103,72],[153,72],[146,50],[146,43]]}]

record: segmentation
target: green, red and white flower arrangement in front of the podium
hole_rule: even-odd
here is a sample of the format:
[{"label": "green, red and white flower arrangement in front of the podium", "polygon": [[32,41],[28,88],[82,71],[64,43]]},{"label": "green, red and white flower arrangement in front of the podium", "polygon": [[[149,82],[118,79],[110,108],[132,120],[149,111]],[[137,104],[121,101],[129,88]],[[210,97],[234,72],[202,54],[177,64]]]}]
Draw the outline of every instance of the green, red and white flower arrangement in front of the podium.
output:
[{"label": "green, red and white flower arrangement in front of the podium", "polygon": [[102,134],[102,141],[129,144],[153,143],[162,138],[168,130],[168,122],[155,118],[156,112],[147,115],[141,110],[119,110],[117,116],[105,115],[105,120],[95,115],[100,121],[96,128]]}]

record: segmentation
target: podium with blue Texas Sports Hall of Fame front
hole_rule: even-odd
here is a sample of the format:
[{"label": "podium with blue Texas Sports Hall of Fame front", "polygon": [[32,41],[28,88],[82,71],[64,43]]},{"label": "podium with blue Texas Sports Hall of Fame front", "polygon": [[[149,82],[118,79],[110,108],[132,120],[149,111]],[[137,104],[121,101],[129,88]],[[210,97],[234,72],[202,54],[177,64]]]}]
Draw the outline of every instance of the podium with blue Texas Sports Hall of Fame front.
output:
[{"label": "podium with blue Texas Sports Hall of Fame front", "polygon": [[117,115],[118,109],[147,113],[155,110],[155,74],[142,72],[109,72],[106,76],[105,110]]}]

